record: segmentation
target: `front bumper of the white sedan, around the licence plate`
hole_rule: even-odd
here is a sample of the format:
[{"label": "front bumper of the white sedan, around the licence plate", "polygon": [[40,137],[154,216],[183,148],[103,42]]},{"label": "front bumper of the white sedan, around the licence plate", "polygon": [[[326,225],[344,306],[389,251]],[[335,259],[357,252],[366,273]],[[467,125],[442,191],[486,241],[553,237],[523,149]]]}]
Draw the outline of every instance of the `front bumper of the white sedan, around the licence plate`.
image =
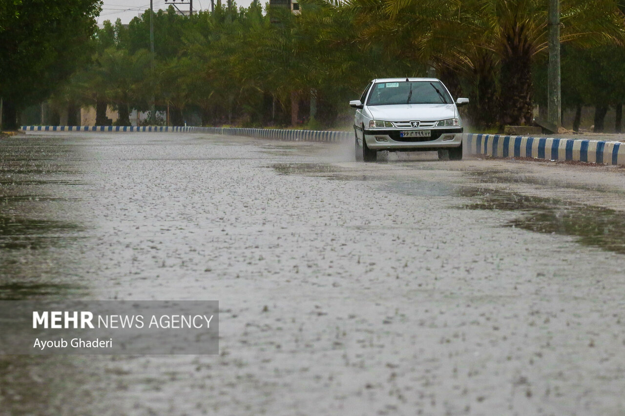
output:
[{"label": "front bumper of the white sedan, around the licence plate", "polygon": [[367,147],[375,150],[431,151],[462,144],[462,127],[452,129],[427,129],[429,137],[399,137],[399,132],[410,129],[364,129]]}]

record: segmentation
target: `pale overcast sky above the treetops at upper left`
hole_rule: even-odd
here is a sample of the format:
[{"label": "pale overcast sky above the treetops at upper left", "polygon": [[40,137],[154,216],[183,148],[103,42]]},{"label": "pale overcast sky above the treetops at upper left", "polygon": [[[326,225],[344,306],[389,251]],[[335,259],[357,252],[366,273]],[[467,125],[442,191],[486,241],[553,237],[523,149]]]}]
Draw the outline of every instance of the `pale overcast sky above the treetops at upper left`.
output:
[{"label": "pale overcast sky above the treetops at upper left", "polygon": [[[180,0],[178,0],[180,1]],[[224,0],[225,1],[225,0]],[[167,3],[165,0],[153,0],[154,2],[154,11],[158,9],[167,9],[169,4],[171,4],[172,0],[169,0]],[[243,6],[247,7],[252,3],[252,0],[237,0],[237,7]],[[215,4],[217,4],[217,0],[215,0]],[[115,22],[118,18],[121,19],[122,23],[130,22],[133,17],[137,17],[139,13],[145,11],[150,8],[149,0],[104,0],[104,4],[102,6],[102,12],[100,13],[100,17],[98,17],[98,24],[102,24],[105,20],[110,20],[111,22]],[[211,0],[193,0],[193,10],[199,9],[210,9],[211,8]],[[185,4],[184,6],[180,6],[179,9],[188,10],[189,4]]]}]

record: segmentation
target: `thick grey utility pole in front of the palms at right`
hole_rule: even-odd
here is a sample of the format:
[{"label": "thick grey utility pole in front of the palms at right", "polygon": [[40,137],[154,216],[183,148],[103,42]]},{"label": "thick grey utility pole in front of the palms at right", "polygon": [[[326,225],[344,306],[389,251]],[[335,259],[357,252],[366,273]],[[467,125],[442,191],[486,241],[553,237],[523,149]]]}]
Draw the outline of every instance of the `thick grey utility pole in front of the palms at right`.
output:
[{"label": "thick grey utility pole in front of the palms at right", "polygon": [[560,0],[549,2],[549,99],[547,117],[556,127],[562,126],[562,90],[560,72]]}]

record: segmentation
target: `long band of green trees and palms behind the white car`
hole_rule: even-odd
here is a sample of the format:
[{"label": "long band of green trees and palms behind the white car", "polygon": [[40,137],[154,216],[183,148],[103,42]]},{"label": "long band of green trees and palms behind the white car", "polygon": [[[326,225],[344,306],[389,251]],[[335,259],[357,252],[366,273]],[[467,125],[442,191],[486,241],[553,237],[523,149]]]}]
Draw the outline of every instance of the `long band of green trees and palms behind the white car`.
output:
[{"label": "long band of green trees and palms behind the white car", "polygon": [[[435,74],[454,97],[471,99],[467,116],[478,129],[531,124],[534,106],[546,105],[546,0],[300,4],[300,16],[259,2],[238,9],[218,2],[214,12],[191,17],[170,7],[153,16],[154,57],[149,11],[126,26],[105,22],[85,49],[91,59],[73,62],[68,81],[50,80],[12,104],[48,97],[56,117],[93,106],[96,124],[106,122],[107,106],[121,125],[133,109],[154,106],[169,110],[171,125],[194,112],[207,126],[326,128],[349,122],[346,102],[373,77]],[[609,107],[620,123],[625,101],[625,5],[562,0],[561,8],[562,104],[596,107],[601,131]]]}]

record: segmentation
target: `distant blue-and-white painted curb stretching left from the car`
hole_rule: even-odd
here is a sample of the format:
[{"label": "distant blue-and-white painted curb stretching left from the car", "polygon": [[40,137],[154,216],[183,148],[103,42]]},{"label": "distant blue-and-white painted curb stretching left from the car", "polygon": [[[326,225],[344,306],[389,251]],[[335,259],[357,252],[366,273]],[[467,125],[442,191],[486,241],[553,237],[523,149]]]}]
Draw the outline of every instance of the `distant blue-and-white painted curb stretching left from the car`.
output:
[{"label": "distant blue-and-white painted curb stretching left from the car", "polygon": [[22,130],[47,132],[186,132],[227,134],[284,141],[340,142],[354,139],[354,133],[344,131],[246,129],[241,127],[164,127],[164,126],[22,126]]}]

